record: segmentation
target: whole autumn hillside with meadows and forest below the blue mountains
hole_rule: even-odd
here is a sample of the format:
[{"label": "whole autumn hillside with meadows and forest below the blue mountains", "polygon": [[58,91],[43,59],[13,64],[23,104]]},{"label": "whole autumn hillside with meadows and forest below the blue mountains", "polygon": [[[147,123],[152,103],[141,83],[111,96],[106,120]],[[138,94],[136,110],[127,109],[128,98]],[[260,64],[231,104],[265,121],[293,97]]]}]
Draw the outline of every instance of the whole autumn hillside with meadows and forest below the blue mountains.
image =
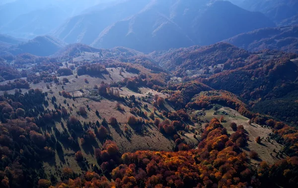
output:
[{"label": "whole autumn hillside with meadows and forest below the blue mountains", "polygon": [[[1,59],[1,186],[297,186],[297,129],[285,124],[296,121],[296,55],[224,43],[173,51],[75,44]],[[180,71],[159,66],[176,57]]]}]

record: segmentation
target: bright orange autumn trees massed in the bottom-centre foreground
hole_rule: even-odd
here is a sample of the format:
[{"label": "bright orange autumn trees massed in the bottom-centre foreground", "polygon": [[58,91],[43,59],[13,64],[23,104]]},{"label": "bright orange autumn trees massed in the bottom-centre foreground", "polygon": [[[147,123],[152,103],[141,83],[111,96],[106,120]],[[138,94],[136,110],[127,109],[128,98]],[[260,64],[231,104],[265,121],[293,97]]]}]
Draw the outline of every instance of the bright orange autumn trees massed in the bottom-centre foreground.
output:
[{"label": "bright orange autumn trees massed in the bottom-centre foreground", "polygon": [[[177,136],[175,138],[178,140]],[[198,149],[193,150],[124,153],[122,164],[110,171],[113,183],[103,182],[107,187],[116,188],[259,186],[258,179],[253,178],[254,173],[248,168],[246,154],[239,152],[218,119],[210,121],[202,138]],[[101,166],[109,169],[110,157],[118,153],[115,143],[106,141],[99,152],[98,156],[106,157],[102,158],[105,162]],[[93,179],[86,179],[86,175],[80,178],[80,182],[92,185],[93,180],[100,179],[95,175]]]}]

